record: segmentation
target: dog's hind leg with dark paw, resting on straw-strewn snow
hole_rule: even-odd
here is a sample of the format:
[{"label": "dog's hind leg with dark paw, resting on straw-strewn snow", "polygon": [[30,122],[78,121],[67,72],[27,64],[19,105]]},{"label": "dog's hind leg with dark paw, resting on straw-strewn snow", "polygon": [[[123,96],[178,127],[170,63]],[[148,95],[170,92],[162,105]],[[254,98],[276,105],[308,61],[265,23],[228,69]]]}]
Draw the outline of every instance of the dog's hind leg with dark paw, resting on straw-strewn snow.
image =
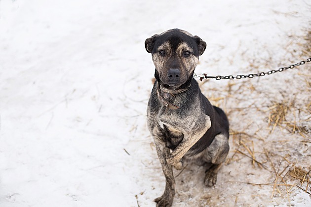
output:
[{"label": "dog's hind leg with dark paw, resting on straw-strewn snow", "polygon": [[209,168],[205,171],[204,184],[211,187],[216,184],[217,173],[225,162],[229,152],[228,136],[223,134],[216,135],[211,145],[206,148],[204,160],[209,164]]}]

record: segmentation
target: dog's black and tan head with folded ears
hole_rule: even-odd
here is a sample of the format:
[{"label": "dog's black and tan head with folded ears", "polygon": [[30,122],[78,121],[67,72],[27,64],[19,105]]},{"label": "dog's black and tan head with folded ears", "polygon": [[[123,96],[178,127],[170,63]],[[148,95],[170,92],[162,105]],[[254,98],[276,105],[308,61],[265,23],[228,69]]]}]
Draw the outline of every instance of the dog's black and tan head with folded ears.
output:
[{"label": "dog's black and tan head with folded ears", "polygon": [[166,88],[179,88],[191,81],[206,43],[198,36],[173,29],[146,39],[145,47],[152,54],[157,81]]}]

